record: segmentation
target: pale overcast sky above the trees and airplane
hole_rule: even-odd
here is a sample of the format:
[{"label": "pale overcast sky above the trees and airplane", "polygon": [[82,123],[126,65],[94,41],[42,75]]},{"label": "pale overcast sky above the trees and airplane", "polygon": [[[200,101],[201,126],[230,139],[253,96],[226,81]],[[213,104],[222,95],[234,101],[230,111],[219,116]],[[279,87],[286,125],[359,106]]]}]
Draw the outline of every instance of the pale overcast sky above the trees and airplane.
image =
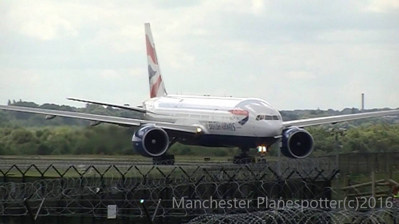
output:
[{"label": "pale overcast sky above the trees and airplane", "polygon": [[171,94],[399,107],[398,0],[280,2],[1,1],[0,104],[141,104],[150,22]]}]

